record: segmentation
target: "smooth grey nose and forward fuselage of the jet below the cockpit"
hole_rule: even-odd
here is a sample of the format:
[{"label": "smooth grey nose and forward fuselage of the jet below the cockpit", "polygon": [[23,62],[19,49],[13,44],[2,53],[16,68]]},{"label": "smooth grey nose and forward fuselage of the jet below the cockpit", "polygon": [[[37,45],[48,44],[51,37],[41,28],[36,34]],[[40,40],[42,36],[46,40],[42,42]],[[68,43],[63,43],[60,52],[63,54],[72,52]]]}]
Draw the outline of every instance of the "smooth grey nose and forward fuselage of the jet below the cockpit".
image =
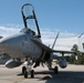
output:
[{"label": "smooth grey nose and forward fuselage of the jet below the cockpit", "polygon": [[41,42],[39,38],[33,37],[31,30],[21,31],[17,34],[2,38],[0,40],[0,50],[15,59],[23,59],[27,56],[39,59],[42,54],[42,49],[32,42],[31,39]]}]

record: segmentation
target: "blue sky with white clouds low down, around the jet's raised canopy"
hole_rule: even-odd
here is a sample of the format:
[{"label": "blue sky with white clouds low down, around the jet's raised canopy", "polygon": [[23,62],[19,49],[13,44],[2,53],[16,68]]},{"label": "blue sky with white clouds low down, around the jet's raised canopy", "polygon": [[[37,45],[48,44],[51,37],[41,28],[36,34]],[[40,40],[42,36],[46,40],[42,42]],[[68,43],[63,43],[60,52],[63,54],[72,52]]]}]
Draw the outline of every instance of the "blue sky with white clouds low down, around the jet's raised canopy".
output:
[{"label": "blue sky with white clouds low down, around the jet's raised canopy", "polygon": [[21,7],[32,3],[41,29],[42,41],[52,46],[60,32],[55,49],[71,50],[84,33],[84,0],[0,0],[0,35],[19,32],[23,28]]}]

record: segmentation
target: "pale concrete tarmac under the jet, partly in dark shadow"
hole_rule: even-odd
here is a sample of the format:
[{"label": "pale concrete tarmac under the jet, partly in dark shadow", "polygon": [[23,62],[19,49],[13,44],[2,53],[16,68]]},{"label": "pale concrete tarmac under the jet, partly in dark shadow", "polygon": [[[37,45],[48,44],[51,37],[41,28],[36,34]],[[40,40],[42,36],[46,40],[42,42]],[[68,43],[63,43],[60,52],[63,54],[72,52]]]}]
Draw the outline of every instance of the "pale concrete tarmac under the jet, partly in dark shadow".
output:
[{"label": "pale concrete tarmac under the jet, partly in dark shadow", "polygon": [[84,65],[67,65],[59,68],[59,74],[49,71],[48,68],[36,68],[34,79],[24,79],[21,73],[22,65],[15,69],[7,69],[0,65],[0,83],[84,83]]}]

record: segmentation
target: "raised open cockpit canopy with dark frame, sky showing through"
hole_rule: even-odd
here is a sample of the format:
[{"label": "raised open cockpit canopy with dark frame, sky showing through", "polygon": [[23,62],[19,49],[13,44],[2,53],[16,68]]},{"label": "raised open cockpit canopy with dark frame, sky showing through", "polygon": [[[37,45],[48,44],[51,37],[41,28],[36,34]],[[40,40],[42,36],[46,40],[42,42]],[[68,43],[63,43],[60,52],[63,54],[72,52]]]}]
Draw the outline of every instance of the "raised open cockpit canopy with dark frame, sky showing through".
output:
[{"label": "raised open cockpit canopy with dark frame, sky showing through", "polygon": [[33,6],[30,3],[24,4],[21,9],[21,12],[25,28],[24,30],[31,29],[39,38],[41,38]]}]

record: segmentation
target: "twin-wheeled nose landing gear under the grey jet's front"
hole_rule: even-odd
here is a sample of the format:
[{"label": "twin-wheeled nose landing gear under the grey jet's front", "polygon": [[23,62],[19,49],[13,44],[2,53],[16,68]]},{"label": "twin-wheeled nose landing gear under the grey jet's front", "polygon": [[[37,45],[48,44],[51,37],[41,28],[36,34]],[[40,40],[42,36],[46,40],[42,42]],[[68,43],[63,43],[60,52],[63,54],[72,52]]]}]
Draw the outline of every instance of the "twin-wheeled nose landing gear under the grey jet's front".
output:
[{"label": "twin-wheeled nose landing gear under the grey jet's front", "polygon": [[29,75],[34,77],[34,70],[32,70],[32,60],[28,60],[27,64],[22,68],[22,74],[27,79]]}]

